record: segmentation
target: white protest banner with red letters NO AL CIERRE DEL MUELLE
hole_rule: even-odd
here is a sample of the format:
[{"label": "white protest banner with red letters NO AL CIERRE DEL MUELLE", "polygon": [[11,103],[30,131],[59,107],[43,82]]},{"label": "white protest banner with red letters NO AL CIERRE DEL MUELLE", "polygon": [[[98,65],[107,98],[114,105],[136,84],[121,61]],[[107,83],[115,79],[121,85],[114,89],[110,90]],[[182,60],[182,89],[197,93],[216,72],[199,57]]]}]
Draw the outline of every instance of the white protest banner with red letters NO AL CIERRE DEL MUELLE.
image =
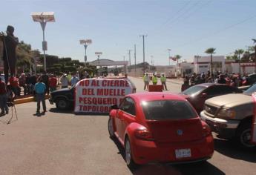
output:
[{"label": "white protest banner with red letters NO AL CIERRE DEL MUELLE", "polygon": [[128,79],[82,79],[76,84],[75,113],[109,113],[125,95],[133,93]]}]

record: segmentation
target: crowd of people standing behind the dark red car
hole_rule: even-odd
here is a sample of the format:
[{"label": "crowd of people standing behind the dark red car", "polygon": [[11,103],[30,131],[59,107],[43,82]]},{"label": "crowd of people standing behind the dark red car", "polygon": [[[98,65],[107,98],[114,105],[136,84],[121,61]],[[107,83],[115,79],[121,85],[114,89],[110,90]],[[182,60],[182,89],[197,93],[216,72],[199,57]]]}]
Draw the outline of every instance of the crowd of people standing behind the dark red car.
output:
[{"label": "crowd of people standing behind the dark red car", "polygon": [[220,83],[220,84],[227,84],[231,85],[234,87],[239,87],[244,84],[246,81],[246,75],[241,76],[239,73],[210,73],[208,71],[207,73],[201,73],[201,74],[196,74],[193,73],[191,76],[185,76],[184,79],[184,84],[182,86],[182,91],[186,90],[186,88],[193,86],[193,85],[198,85],[201,83]]}]

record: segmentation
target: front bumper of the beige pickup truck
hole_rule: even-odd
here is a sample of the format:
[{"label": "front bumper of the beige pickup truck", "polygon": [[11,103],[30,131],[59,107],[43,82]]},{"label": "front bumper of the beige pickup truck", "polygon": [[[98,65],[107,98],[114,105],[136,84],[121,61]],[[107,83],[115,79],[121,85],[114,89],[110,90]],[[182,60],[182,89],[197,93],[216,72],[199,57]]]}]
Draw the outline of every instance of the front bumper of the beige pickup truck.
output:
[{"label": "front bumper of the beige pickup truck", "polygon": [[240,121],[212,118],[207,116],[203,111],[200,113],[201,119],[206,122],[211,131],[218,133],[220,137],[232,139],[235,136],[236,129]]}]

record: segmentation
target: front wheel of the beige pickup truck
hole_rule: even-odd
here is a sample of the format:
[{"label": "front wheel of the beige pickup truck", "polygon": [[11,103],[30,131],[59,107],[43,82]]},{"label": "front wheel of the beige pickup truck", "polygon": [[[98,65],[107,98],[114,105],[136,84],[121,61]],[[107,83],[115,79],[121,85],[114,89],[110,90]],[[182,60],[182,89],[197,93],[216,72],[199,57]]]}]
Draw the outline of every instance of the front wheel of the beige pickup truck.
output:
[{"label": "front wheel of the beige pickup truck", "polygon": [[252,125],[250,123],[245,123],[240,125],[237,130],[237,141],[242,148],[252,149],[255,145],[251,143],[252,139]]}]

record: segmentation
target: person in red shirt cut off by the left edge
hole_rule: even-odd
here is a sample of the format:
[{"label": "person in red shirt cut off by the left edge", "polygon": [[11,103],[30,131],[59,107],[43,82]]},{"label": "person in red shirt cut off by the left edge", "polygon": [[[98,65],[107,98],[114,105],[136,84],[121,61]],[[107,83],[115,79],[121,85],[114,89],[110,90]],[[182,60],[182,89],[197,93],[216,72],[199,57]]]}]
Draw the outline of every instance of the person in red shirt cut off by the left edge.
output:
[{"label": "person in red shirt cut off by the left edge", "polygon": [[1,113],[0,116],[4,115],[4,110],[5,113],[9,113],[9,109],[7,106],[7,90],[6,90],[6,85],[4,82],[1,81],[0,77],[0,108],[1,108]]}]

